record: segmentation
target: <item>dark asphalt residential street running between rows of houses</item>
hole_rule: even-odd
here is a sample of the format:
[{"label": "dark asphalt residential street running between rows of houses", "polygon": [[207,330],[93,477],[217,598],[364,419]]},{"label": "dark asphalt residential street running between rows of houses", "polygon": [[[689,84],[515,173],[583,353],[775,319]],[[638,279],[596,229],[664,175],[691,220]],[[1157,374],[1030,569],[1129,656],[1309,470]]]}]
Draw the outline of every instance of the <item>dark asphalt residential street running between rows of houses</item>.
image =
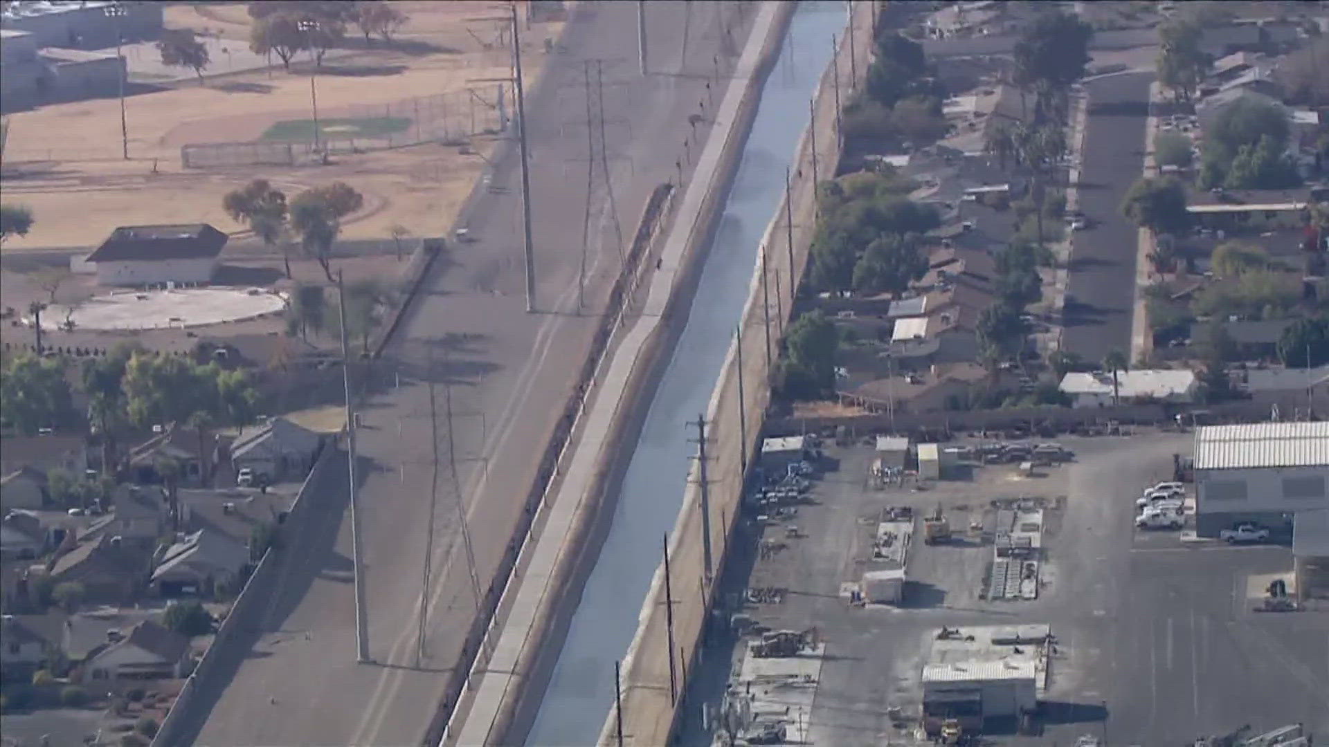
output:
[{"label": "dark asphalt residential street running between rows of houses", "polygon": [[1144,167],[1150,73],[1107,76],[1086,84],[1079,209],[1090,227],[1075,234],[1066,291],[1062,350],[1099,362],[1112,350],[1130,355],[1139,231],[1122,217],[1126,191]]}]

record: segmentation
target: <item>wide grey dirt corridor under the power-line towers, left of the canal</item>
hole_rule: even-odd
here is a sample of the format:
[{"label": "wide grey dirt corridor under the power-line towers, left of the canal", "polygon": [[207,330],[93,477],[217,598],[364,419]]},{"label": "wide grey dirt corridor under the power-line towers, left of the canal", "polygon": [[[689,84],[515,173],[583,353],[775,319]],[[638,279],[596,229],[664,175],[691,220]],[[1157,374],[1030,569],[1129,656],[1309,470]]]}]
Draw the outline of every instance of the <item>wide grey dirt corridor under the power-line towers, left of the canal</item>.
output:
[{"label": "wide grey dirt corridor under the power-line towers, left of the canal", "polygon": [[[587,167],[582,60],[606,60],[606,138],[625,237],[655,185],[675,174],[691,130],[687,114],[707,96],[715,56],[722,72],[727,65],[723,54],[731,44],[716,12],[732,12],[732,5],[653,3],[651,66],[661,73],[643,81],[635,65],[635,9],[625,3],[578,5],[563,41],[570,52],[552,60],[545,84],[528,102],[540,314],[524,312],[520,174],[508,157],[493,182],[513,189],[481,198],[469,222],[478,242],[435,268],[385,352],[380,391],[361,408],[369,653],[377,663],[354,663],[350,525],[339,510],[326,524],[304,526],[286,548],[283,581],[260,641],[231,686],[215,695],[211,712],[199,712],[187,730],[198,744],[419,742],[476,605],[457,541],[459,490],[447,468],[444,384],[451,384],[451,440],[477,576],[486,586],[597,322],[574,314]],[[731,33],[742,43],[739,29]],[[617,272],[615,231],[599,219],[606,202],[597,189],[593,223],[602,230],[593,231],[589,253],[591,308],[603,304]],[[436,383],[437,433],[429,380]],[[480,468],[481,455],[488,469]],[[417,657],[423,558],[431,542],[429,619],[424,655]]]}]

